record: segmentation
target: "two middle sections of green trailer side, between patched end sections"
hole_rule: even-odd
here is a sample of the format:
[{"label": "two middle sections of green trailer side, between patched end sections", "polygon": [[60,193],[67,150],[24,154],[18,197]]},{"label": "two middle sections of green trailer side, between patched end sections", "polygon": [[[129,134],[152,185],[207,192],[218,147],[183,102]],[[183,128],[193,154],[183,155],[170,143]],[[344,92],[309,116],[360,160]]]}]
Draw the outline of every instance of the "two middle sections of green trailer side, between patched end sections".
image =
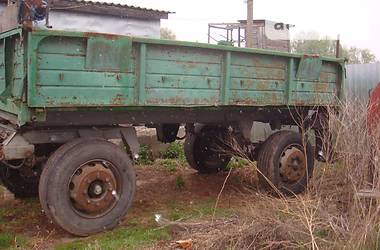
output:
[{"label": "two middle sections of green trailer side, between patched end sections", "polygon": [[140,104],[285,105],[286,66],[279,56],[150,45]]}]

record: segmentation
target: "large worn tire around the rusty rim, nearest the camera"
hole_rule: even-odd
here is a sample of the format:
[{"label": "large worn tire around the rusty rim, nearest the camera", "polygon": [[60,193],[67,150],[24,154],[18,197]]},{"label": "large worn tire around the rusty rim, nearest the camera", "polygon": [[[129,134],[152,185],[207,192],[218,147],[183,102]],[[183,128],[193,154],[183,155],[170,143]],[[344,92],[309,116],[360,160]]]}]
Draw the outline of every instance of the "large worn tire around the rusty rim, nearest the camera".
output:
[{"label": "large worn tire around the rusty rim, nearest the camera", "polygon": [[[117,168],[121,178],[120,200],[99,218],[84,218],[70,204],[70,178],[77,167],[92,159],[104,159]],[[136,174],[132,161],[117,145],[98,138],[80,138],[60,147],[42,171],[39,196],[45,214],[67,232],[88,236],[117,226],[132,205]]]}]

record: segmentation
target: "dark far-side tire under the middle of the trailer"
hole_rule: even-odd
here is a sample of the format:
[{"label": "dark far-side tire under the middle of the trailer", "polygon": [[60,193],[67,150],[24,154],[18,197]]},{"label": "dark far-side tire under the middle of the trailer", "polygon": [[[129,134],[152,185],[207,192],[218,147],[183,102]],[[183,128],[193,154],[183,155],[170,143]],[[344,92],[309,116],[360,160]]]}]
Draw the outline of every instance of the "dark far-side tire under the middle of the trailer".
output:
[{"label": "dark far-side tire under the middle of the trailer", "polygon": [[[214,155],[216,159],[214,165],[207,164],[207,162],[204,162],[205,159],[199,158],[199,154],[205,152],[202,149],[202,145],[200,145],[202,139],[206,136],[212,136],[213,138],[217,138],[218,136],[223,137],[225,133],[227,133],[227,128],[197,125],[194,133],[189,133],[185,139],[185,158],[190,167],[197,170],[200,174],[213,174],[225,170],[231,160],[231,156]],[[210,153],[210,151],[208,152]]]}]

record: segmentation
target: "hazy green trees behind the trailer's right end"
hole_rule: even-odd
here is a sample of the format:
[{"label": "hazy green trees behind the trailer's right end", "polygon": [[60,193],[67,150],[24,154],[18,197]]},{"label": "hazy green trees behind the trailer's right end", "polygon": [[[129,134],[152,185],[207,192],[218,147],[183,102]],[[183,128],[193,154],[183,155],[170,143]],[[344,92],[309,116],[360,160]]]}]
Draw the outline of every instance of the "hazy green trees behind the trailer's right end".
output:
[{"label": "hazy green trees behind the trailer's right end", "polygon": [[[336,40],[329,37],[320,38],[317,33],[300,33],[291,43],[295,53],[319,54],[322,56],[336,56]],[[354,46],[342,47],[340,55],[348,59],[350,64],[376,62],[376,56],[369,49],[360,49]]]}]

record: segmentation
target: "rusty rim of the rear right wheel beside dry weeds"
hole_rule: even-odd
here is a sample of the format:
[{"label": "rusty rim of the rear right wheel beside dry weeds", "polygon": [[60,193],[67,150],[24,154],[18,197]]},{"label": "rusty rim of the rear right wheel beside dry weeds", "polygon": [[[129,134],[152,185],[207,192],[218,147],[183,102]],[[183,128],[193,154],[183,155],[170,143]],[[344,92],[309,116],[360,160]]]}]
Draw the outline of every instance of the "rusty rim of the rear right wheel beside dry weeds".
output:
[{"label": "rusty rim of the rear right wheel beside dry weeds", "polygon": [[306,174],[306,156],[300,145],[290,145],[281,154],[280,178],[283,183],[294,184]]}]

